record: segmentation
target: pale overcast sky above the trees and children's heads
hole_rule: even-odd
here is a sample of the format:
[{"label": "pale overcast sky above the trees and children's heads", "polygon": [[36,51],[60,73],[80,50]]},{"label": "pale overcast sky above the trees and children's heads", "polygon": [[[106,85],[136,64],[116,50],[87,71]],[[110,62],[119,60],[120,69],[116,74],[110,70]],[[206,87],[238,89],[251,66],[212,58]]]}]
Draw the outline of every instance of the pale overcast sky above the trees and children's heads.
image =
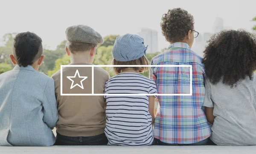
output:
[{"label": "pale overcast sky above the trees and children's heads", "polygon": [[168,46],[160,21],[168,9],[181,7],[195,18],[195,30],[213,32],[215,17],[224,28],[252,31],[256,0],[0,0],[0,37],[32,31],[55,49],[68,26],[84,24],[102,34],[136,34],[139,28],[158,31],[159,50]]}]

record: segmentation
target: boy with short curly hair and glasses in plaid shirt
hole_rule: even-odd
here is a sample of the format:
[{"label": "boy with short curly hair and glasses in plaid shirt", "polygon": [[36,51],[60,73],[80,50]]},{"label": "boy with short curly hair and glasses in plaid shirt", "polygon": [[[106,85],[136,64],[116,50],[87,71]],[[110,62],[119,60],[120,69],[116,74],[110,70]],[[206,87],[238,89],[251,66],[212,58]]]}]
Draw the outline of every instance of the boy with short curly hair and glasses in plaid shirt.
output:
[{"label": "boy with short curly hair and glasses in plaid shirt", "polygon": [[154,57],[151,65],[191,65],[192,95],[189,67],[151,67],[150,76],[157,84],[158,94],[180,94],[159,96],[154,137],[160,145],[205,145],[211,130],[202,108],[204,65],[191,50],[194,37],[198,36],[194,18],[183,9],[170,9],[162,17],[161,28],[170,46]]}]

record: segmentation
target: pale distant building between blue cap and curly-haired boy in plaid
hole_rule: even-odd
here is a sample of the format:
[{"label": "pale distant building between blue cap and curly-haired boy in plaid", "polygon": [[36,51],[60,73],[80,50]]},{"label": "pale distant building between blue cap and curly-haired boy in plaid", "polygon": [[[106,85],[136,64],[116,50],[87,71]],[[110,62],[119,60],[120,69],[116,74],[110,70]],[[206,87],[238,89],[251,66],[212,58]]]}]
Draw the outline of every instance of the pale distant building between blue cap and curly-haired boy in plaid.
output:
[{"label": "pale distant building between blue cap and curly-haired boy in plaid", "polygon": [[138,35],[144,38],[145,46],[148,45],[147,53],[155,53],[158,51],[158,38],[156,30],[143,28]]}]

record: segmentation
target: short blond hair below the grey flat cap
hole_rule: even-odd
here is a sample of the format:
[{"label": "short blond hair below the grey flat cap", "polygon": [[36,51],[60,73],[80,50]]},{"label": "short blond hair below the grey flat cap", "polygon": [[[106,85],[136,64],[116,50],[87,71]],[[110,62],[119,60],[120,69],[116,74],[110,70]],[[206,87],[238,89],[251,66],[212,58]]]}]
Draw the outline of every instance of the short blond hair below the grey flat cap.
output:
[{"label": "short blond hair below the grey flat cap", "polygon": [[78,51],[90,51],[97,44],[67,41],[66,46],[71,53],[76,54]]}]

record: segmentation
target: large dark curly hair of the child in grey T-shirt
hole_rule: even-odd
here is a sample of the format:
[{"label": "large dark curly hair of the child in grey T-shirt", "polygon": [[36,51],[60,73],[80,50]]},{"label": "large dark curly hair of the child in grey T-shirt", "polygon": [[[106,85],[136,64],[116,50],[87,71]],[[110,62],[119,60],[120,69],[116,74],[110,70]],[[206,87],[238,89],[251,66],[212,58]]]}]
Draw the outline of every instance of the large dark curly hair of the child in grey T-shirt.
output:
[{"label": "large dark curly hair of the child in grey T-shirt", "polygon": [[253,79],[256,70],[256,37],[244,30],[221,31],[211,37],[204,50],[207,77],[215,84],[236,87],[240,79]]}]

